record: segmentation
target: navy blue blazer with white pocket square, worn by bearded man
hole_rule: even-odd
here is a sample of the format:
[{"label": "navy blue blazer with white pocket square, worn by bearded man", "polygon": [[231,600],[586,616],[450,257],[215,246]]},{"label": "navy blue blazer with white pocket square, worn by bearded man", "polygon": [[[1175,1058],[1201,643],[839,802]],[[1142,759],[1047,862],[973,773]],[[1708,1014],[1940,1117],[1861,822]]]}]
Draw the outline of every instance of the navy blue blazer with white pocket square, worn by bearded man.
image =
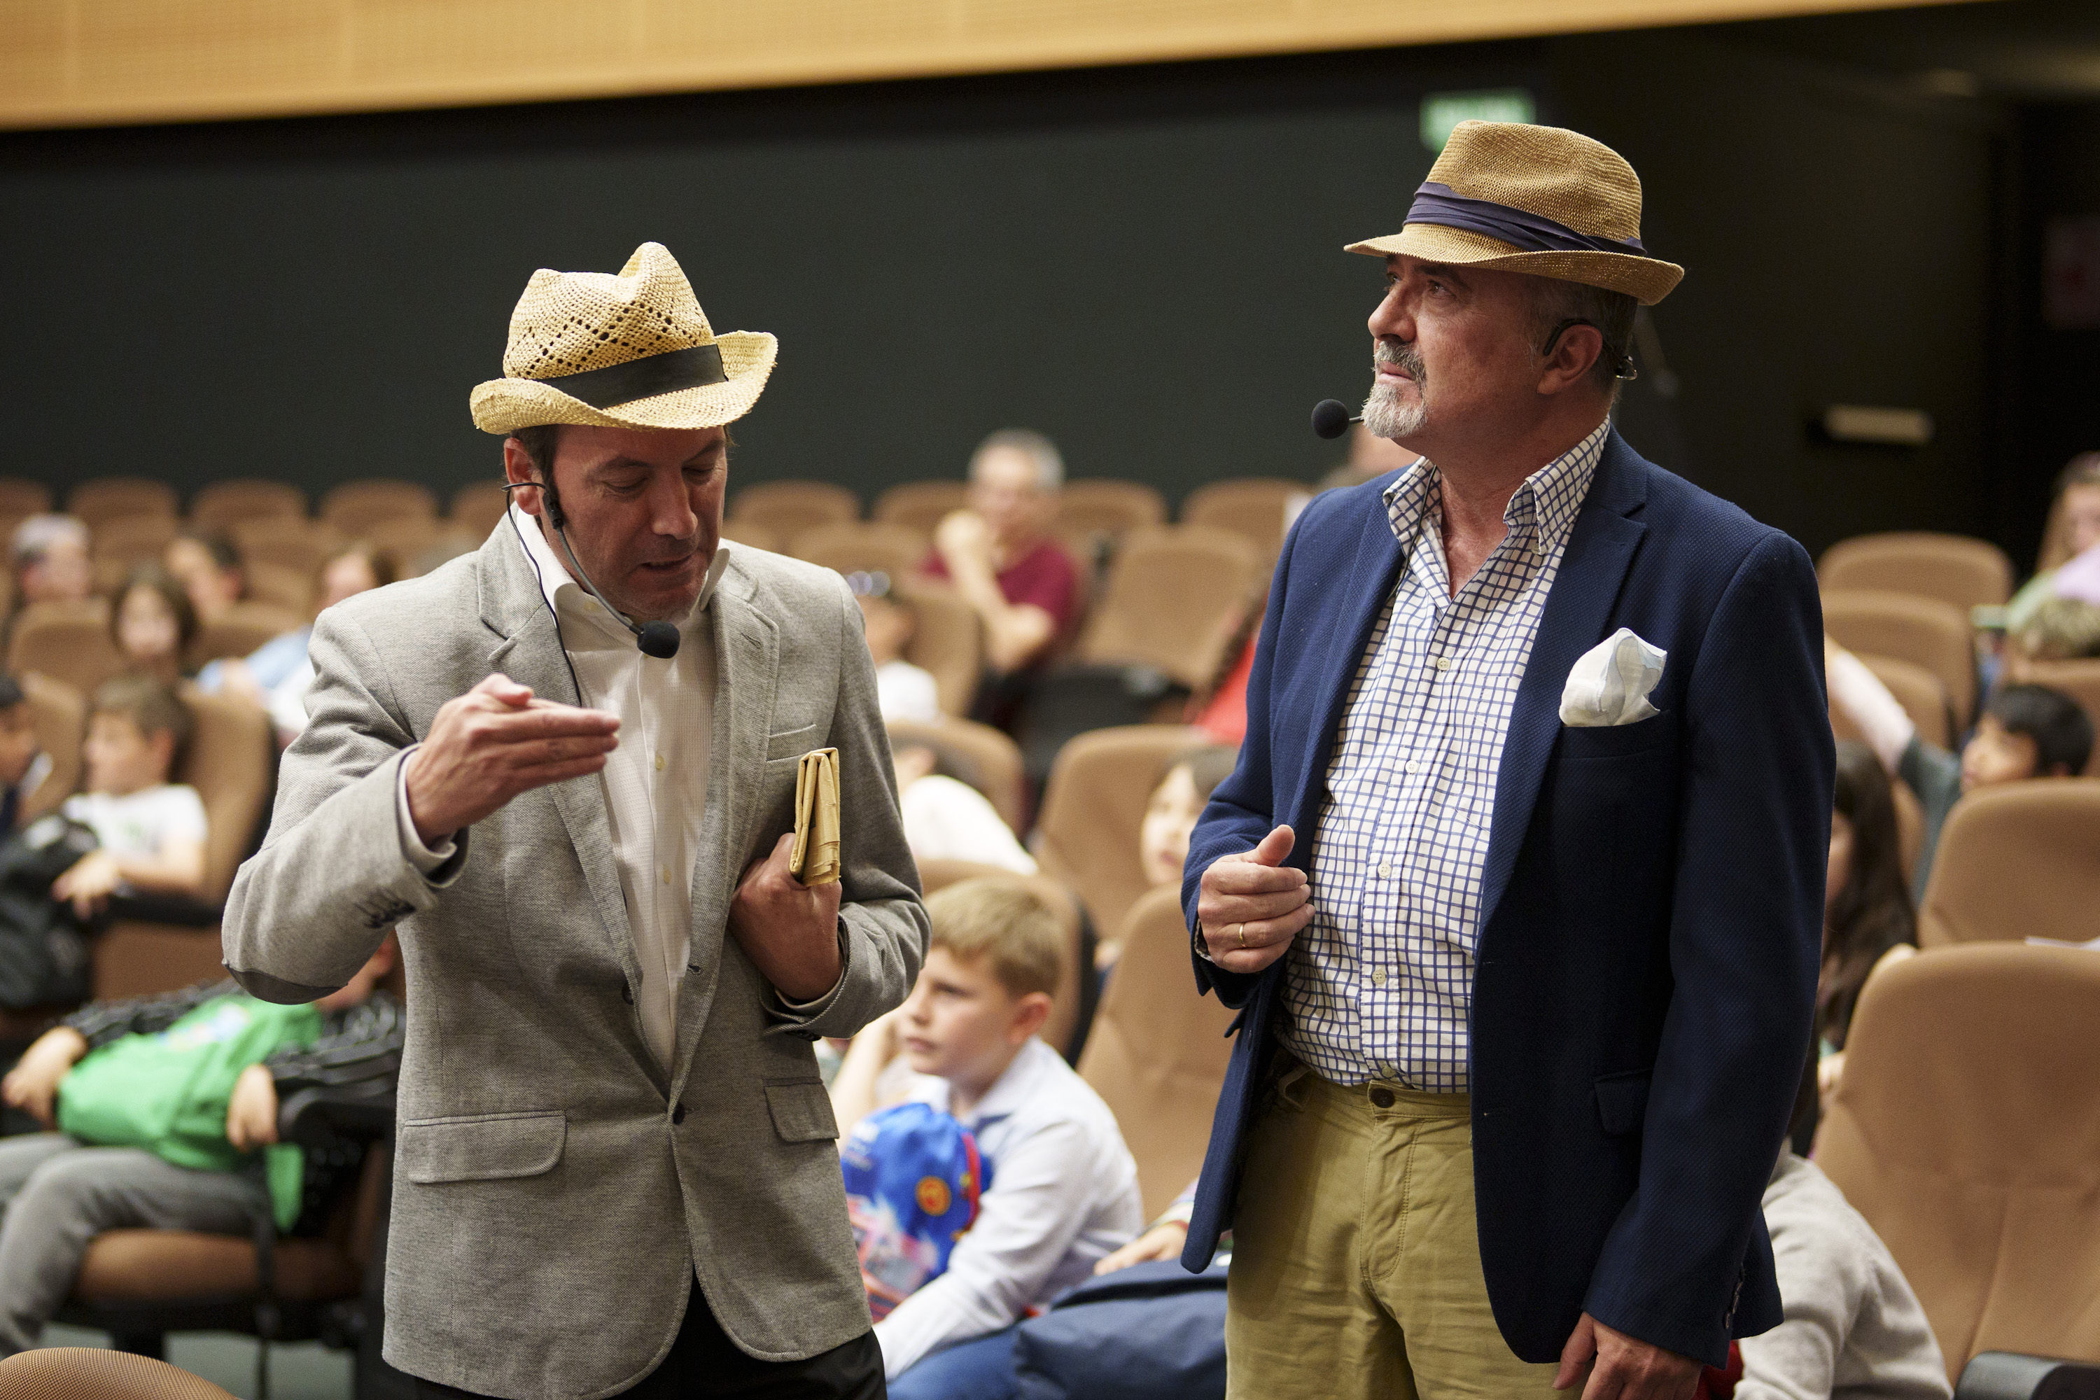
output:
[{"label": "navy blue blazer with white pocket square, worn by bearded man", "polygon": [[[1197,879],[1312,827],[1350,678],[1392,594],[1394,476],[1306,506],[1247,680],[1247,741],[1195,837]],[[1638,724],[1569,728],[1569,667],[1617,628],[1670,653]],[[1823,940],[1833,745],[1814,569],[1787,535],[1613,432],[1575,518],[1495,779],[1472,984],[1480,1264],[1527,1362],[1583,1312],[1724,1364],[1781,1320],[1760,1196],[1785,1133]],[[1233,1224],[1283,963],[1195,959],[1243,1007],[1182,1261]]]}]

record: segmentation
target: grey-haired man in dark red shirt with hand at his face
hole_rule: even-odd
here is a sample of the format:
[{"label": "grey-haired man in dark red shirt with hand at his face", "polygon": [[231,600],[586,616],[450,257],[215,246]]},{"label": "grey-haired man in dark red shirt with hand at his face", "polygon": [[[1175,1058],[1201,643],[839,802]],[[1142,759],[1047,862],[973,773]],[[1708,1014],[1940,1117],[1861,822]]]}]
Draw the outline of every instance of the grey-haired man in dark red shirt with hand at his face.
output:
[{"label": "grey-haired man in dark red shirt with hand at his face", "polygon": [[985,623],[979,714],[1010,724],[1033,667],[1079,621],[1079,569],[1050,527],[1065,458],[1042,432],[1002,428],[970,453],[970,504],[934,527],[926,573],[951,579]]}]

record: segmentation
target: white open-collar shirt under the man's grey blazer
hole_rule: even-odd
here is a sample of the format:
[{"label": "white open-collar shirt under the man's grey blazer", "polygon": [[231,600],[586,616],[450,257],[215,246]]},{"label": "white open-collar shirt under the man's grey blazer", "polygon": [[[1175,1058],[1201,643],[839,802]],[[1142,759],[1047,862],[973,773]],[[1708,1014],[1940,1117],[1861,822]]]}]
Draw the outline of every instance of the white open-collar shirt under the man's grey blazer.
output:
[{"label": "white open-collar shirt under the man's grey blazer", "polygon": [[[729,563],[718,550],[693,611],[678,621],[678,655],[645,657],[617,617],[584,592],[540,523],[510,508],[525,554],[561,628],[584,705],[620,716],[620,743],[598,781],[611,823],[613,863],[626,894],[628,930],[640,987],[643,1039],[666,1073],[678,1043],[678,982],[685,980],[693,924],[693,863],[708,810],[708,758],[714,739],[714,628],[708,604]],[[567,697],[548,697],[567,699]],[[401,766],[401,846],[424,873],[443,865],[454,844],[424,848],[407,810],[407,764]]]}]

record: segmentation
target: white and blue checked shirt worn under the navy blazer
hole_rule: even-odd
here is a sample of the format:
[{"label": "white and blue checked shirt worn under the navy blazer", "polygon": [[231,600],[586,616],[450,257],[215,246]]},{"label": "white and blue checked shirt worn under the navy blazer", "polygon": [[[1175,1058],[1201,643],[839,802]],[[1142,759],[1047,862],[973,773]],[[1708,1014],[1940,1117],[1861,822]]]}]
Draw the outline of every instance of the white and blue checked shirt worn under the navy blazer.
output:
[{"label": "white and blue checked shirt worn under the navy blazer", "polygon": [[1468,1091],[1480,871],[1510,709],[1609,420],[1525,479],[1508,535],[1451,596],[1443,476],[1386,491],[1405,552],[1371,628],[1312,837],[1312,924],[1283,976],[1283,1045],[1342,1085]]}]

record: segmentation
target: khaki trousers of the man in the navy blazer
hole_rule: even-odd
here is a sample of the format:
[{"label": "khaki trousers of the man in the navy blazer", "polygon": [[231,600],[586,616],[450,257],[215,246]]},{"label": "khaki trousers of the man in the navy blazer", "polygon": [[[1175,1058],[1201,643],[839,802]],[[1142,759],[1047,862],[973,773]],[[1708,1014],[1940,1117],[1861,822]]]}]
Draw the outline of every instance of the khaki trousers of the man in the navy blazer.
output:
[{"label": "khaki trousers of the man in the navy blazer", "polygon": [[1279,1060],[1239,1178],[1228,1400],[1577,1394],[1516,1360],[1489,1310],[1466,1096]]}]

